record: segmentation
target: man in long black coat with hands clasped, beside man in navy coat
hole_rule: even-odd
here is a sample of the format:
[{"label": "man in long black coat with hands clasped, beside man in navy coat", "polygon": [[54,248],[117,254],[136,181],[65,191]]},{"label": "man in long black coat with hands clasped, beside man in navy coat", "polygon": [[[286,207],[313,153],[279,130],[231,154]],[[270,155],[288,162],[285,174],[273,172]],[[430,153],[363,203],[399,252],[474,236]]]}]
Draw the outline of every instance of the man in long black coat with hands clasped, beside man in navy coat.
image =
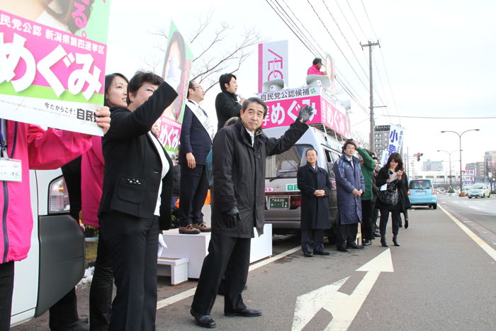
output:
[{"label": "man in long black coat with hands clasped, beside man in navy coat", "polygon": [[[307,164],[298,168],[298,189],[301,191],[301,249],[305,257],[329,255],[324,250],[324,230],[330,228],[329,201],[332,186],[329,174],[317,167],[317,151],[305,152]],[[313,252],[310,241],[313,240]]]}]

